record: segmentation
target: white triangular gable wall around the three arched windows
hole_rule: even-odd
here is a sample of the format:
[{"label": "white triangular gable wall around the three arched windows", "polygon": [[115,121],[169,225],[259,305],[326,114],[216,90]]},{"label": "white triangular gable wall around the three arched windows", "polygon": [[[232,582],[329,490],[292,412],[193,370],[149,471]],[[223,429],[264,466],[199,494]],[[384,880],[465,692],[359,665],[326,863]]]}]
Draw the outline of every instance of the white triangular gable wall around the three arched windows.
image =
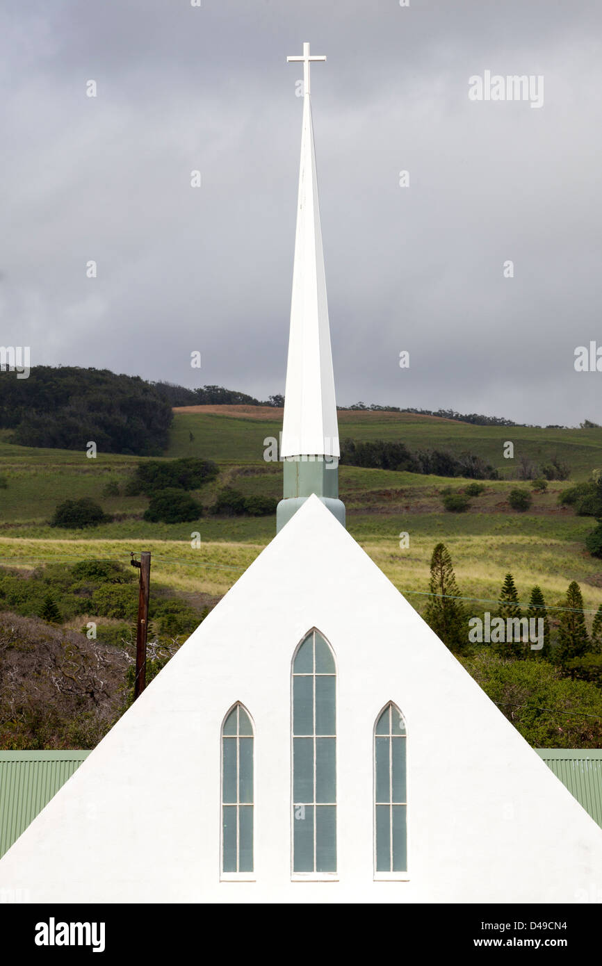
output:
[{"label": "white triangular gable wall around the three arched windows", "polygon": [[[338,878],[291,881],[291,659],[338,674]],[[373,729],[408,727],[409,872],[375,882]],[[220,882],[220,726],[255,727],[255,879]],[[317,497],[232,587],[0,861],[31,901],[558,902],[602,832]]]}]

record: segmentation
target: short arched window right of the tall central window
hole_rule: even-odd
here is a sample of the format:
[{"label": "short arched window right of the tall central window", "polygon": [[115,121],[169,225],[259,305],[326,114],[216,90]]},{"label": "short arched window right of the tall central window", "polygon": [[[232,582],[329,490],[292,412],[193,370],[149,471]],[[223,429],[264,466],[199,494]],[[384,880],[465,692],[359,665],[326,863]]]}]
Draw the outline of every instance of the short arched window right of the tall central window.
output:
[{"label": "short arched window right of the tall central window", "polygon": [[408,867],[406,724],[392,701],[374,732],[375,869],[405,872]]}]

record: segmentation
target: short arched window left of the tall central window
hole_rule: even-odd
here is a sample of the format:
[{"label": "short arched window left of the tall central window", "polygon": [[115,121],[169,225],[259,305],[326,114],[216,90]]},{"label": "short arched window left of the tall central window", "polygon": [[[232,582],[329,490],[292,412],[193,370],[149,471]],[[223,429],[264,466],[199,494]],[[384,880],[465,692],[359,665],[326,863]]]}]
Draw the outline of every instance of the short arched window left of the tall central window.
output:
[{"label": "short arched window left of the tall central window", "polygon": [[221,870],[253,871],[253,725],[235,704],[221,727]]}]

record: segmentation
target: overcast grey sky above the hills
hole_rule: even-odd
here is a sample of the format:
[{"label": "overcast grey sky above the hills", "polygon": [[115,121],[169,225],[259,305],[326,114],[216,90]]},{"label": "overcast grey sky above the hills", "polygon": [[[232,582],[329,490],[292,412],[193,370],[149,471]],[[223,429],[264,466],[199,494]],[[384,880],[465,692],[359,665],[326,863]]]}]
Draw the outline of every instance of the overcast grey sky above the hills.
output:
[{"label": "overcast grey sky above the hills", "polygon": [[[602,422],[574,370],[602,346],[601,28],[599,0],[4,0],[0,344],[283,392],[309,41],[337,402]],[[542,75],[543,106],[469,99],[485,71]]]}]

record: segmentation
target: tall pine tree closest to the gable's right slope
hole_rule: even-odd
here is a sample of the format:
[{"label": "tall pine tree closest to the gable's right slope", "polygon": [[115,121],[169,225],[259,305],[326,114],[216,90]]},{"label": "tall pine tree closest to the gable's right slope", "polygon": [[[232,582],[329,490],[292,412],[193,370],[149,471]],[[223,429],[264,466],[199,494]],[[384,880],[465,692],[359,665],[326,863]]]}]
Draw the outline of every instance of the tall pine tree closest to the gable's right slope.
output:
[{"label": "tall pine tree closest to the gable's right slope", "polygon": [[451,651],[468,648],[466,615],[457,598],[460,591],[453,572],[449,551],[437,544],[431,557],[429,590],[433,595],[425,609],[425,620]]}]

